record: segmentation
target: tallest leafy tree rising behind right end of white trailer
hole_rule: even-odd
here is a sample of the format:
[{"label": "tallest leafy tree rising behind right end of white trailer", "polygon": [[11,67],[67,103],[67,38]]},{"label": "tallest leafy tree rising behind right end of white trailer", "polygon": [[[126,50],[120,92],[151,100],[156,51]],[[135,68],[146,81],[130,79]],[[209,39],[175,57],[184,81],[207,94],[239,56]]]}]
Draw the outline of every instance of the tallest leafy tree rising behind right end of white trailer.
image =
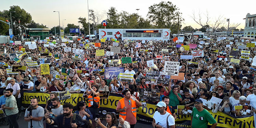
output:
[{"label": "tallest leafy tree rising behind right end of white trailer", "polygon": [[171,33],[177,32],[181,29],[181,22],[184,19],[181,17],[179,9],[172,2],[163,2],[151,5],[147,13],[150,21],[156,25],[157,28],[170,28]]}]

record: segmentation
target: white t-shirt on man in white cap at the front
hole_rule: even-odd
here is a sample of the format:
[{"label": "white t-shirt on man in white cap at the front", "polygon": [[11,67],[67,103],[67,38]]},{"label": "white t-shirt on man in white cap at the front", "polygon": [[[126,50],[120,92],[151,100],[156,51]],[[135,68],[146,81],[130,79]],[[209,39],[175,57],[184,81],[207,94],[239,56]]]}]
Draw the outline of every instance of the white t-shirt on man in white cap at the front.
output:
[{"label": "white t-shirt on man in white cap at the front", "polygon": [[168,125],[169,126],[175,125],[174,117],[170,113],[168,113],[168,112],[166,112],[165,115],[161,115],[158,111],[156,111],[154,113],[153,118],[156,120],[156,124],[159,122],[158,125],[160,125],[160,126],[162,126],[164,128],[167,128],[166,119],[167,119],[168,115],[170,115],[168,117]]}]

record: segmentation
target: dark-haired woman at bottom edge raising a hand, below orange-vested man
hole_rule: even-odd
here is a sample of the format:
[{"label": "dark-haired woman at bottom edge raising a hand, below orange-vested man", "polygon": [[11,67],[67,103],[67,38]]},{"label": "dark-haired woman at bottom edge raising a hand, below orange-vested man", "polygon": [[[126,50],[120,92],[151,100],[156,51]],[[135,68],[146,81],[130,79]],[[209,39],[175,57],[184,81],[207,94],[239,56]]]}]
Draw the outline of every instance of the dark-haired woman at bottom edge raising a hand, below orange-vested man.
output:
[{"label": "dark-haired woman at bottom edge raising a hand, below orange-vested man", "polygon": [[106,114],[106,126],[104,126],[101,122],[100,122],[100,119],[99,118],[96,118],[95,120],[96,123],[99,124],[99,126],[101,128],[116,128],[116,123],[117,123],[117,118],[116,118],[116,115],[112,112],[108,112]]}]

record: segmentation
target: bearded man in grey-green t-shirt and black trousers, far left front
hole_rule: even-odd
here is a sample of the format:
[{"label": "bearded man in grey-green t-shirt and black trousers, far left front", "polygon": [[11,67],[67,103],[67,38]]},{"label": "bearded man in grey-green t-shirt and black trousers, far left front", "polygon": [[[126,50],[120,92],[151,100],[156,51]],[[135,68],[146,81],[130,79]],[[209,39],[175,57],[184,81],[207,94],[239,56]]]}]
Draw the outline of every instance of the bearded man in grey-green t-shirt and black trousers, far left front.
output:
[{"label": "bearded man in grey-green t-shirt and black trousers, far left front", "polygon": [[8,88],[5,90],[5,104],[2,105],[2,109],[5,110],[5,114],[8,118],[8,122],[9,122],[9,128],[18,128],[19,125],[17,123],[17,114],[18,114],[18,107],[16,104],[16,99],[15,97],[12,95],[13,93],[13,89],[12,88]]}]

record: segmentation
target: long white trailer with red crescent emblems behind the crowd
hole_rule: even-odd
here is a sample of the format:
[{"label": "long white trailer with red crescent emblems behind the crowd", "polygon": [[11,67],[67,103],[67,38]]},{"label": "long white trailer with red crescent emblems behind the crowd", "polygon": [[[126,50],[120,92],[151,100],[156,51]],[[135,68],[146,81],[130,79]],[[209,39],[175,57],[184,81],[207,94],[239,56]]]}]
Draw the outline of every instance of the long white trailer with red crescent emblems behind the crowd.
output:
[{"label": "long white trailer with red crescent emblems behind the crowd", "polygon": [[170,29],[99,29],[99,39],[122,40],[163,40],[170,39]]}]

